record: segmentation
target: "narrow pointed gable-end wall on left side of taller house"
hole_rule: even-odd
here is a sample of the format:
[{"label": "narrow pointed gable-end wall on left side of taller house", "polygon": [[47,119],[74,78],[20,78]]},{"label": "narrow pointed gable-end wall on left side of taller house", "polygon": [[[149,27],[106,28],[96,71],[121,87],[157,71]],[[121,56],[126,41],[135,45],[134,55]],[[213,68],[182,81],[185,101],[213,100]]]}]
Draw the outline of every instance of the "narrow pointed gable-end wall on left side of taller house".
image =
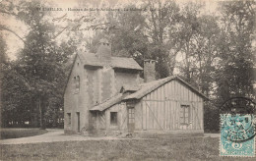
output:
[{"label": "narrow pointed gable-end wall on left side of taller house", "polygon": [[[77,77],[80,78],[80,89],[76,88]],[[88,124],[87,100],[87,80],[84,74],[84,66],[77,57],[71,76],[68,80],[64,94],[64,130],[68,132],[78,132],[78,117],[80,118],[80,130]],[[71,120],[69,119],[71,115]],[[69,124],[69,120],[71,124]]]}]

